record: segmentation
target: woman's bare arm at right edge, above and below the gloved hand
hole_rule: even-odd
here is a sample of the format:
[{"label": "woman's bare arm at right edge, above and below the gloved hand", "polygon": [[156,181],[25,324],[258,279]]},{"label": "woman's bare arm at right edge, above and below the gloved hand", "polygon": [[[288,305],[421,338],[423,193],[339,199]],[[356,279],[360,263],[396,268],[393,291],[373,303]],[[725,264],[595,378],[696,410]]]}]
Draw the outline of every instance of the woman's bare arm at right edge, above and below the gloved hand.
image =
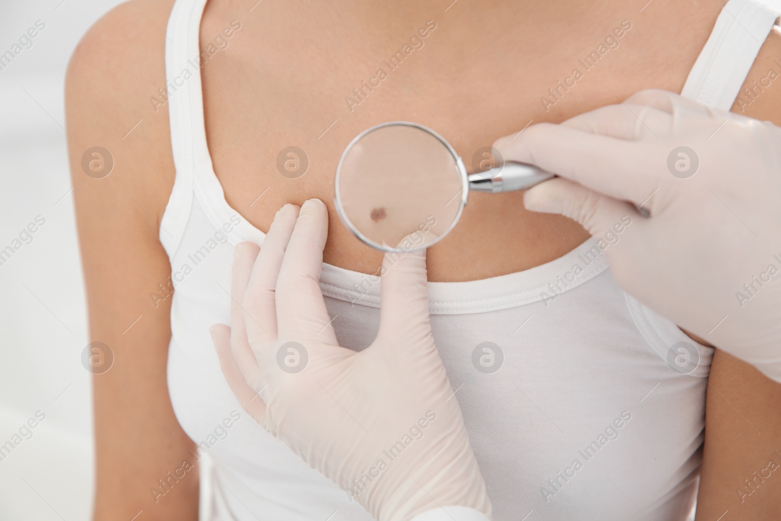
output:
[{"label": "woman's bare arm at right edge, above and below the gloved hand", "polygon": [[[777,27],[776,27],[777,29]],[[781,56],[781,35],[762,46],[744,88],[754,88]],[[740,100],[743,100],[742,102]],[[748,102],[748,103],[747,103]],[[781,77],[753,98],[742,93],[733,112],[781,126]],[[781,512],[781,384],[716,350],[705,405],[705,444],[697,519],[776,519]]]}]

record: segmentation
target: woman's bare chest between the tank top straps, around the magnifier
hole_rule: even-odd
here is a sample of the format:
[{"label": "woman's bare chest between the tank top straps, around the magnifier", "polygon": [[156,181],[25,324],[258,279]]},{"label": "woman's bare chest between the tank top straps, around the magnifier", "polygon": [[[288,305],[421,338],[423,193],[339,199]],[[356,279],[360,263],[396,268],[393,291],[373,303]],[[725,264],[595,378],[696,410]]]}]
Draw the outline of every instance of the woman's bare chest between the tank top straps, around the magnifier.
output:
[{"label": "woman's bare chest between the tank top straps, around the magnifier", "polygon": [[[421,123],[476,170],[498,137],[530,124],[620,102],[642,87],[679,89],[699,50],[666,62],[649,54],[660,31],[636,13],[554,28],[525,9],[478,9],[473,20],[421,12],[420,20],[389,20],[383,31],[355,21],[352,32],[344,20],[309,11],[298,13],[294,34],[245,23],[202,71],[209,150],[227,201],[267,230],[284,203],[320,198],[332,221],[326,262],[373,273],[380,254],[352,237],[333,210],[337,163],[362,130]],[[289,16],[269,15],[282,25]],[[209,24],[207,11],[202,41]],[[430,248],[430,280],[529,269],[586,237],[565,217],[526,212],[521,193],[473,194],[451,236]]]}]

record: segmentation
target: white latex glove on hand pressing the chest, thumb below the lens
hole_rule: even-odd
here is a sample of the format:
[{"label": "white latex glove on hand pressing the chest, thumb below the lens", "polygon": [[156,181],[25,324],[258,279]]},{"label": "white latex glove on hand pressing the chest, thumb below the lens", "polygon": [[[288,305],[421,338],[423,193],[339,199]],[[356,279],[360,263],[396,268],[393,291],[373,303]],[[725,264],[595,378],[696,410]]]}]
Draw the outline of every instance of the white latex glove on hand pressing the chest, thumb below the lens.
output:
[{"label": "white latex glove on hand pressing the chest, thumb below the lens", "polygon": [[375,519],[451,519],[438,508],[448,505],[462,507],[453,510],[462,519],[489,519],[431,336],[425,252],[385,256],[379,333],[352,351],[337,343],[318,284],[327,228],[325,205],[310,199],[300,213],[276,213],[260,250],[237,245],[233,329],[212,327],[228,384],[270,434]]}]

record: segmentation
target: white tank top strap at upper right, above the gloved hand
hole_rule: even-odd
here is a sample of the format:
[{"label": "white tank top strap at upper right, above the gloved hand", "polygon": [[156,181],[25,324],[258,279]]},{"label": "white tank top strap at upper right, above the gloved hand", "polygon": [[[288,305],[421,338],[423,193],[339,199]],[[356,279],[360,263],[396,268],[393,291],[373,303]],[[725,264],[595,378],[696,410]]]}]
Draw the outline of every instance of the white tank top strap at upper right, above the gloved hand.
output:
[{"label": "white tank top strap at upper right, above the gloved hand", "polygon": [[729,0],[681,95],[729,110],[779,14],[781,0]]}]

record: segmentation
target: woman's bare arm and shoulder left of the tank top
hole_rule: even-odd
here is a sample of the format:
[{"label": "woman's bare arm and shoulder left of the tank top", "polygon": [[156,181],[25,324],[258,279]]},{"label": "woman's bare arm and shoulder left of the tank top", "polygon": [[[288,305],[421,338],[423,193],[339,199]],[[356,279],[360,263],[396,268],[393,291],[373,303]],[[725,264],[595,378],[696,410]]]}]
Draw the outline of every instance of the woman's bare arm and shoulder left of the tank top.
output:
[{"label": "woman's bare arm and shoulder left of the tank top", "polygon": [[[170,274],[158,239],[173,187],[168,116],[164,108],[155,112],[149,98],[166,84],[161,30],[172,3],[137,0],[109,12],[78,45],[66,77],[90,337],[107,344],[114,358],[93,378],[95,519],[133,519],[141,510],[140,519],[197,519],[198,471],[178,481],[168,474],[184,460],[195,462],[166,384],[171,299],[150,297]],[[113,162],[101,179],[83,168],[95,146],[109,151],[105,165],[109,155]],[[87,155],[99,169],[100,158]],[[169,480],[166,488],[159,480]]]}]

